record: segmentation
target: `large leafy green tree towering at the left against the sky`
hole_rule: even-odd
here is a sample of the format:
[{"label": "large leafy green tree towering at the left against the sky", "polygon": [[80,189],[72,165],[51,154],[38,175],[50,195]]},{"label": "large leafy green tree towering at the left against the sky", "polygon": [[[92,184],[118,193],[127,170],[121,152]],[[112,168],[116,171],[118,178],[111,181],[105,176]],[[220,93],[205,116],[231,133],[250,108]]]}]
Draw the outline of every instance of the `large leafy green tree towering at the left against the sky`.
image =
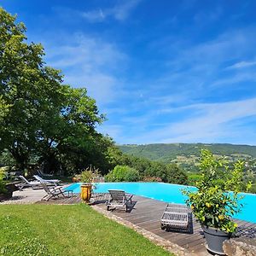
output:
[{"label": "large leafy green tree towering at the left against the sky", "polygon": [[0,9],[0,153],[8,150],[20,169],[32,158],[47,169],[102,167],[114,146],[96,132],[104,116],[95,100],[62,84],[61,72],[45,66],[43,46],[28,44],[15,19]]}]

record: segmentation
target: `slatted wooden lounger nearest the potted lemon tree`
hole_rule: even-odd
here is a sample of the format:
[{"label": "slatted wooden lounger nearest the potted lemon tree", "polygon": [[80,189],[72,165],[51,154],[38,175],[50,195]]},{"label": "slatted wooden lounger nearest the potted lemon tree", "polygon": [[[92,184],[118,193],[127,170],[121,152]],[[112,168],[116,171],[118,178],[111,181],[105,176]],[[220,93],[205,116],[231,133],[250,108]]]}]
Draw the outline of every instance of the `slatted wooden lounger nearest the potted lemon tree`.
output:
[{"label": "slatted wooden lounger nearest the potted lemon tree", "polygon": [[182,204],[167,204],[160,225],[162,230],[178,230],[189,232],[189,207]]}]

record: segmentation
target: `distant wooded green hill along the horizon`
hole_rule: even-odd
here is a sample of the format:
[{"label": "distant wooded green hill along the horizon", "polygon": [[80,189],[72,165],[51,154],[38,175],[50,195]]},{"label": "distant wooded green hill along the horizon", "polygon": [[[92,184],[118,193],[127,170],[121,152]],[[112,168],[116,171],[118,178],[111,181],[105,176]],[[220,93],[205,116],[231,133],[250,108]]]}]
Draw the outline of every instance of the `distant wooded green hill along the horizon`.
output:
[{"label": "distant wooded green hill along the horizon", "polygon": [[213,154],[223,155],[230,160],[256,158],[256,146],[233,144],[205,144],[205,143],[172,143],[172,144],[145,144],[119,145],[125,154],[157,160],[164,163],[196,164],[201,154],[201,148],[208,148]]}]

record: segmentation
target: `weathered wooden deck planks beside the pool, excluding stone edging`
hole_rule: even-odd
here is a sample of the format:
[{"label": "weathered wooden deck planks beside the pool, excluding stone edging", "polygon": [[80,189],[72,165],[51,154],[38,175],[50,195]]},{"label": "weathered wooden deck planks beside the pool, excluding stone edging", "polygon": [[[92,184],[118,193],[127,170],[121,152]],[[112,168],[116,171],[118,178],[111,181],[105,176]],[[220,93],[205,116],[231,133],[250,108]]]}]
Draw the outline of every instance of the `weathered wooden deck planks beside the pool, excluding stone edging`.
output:
[{"label": "weathered wooden deck planks beside the pool, excluding stone edging", "polygon": [[[102,209],[106,209],[104,204],[104,199],[106,200],[106,196],[108,195],[103,195],[102,198],[99,198],[102,201],[97,201],[95,204]],[[133,201],[134,203],[129,212],[115,210],[113,211],[113,214],[131,222],[131,224],[136,224],[137,226],[143,228],[144,230],[148,230],[157,236],[161,236],[166,240],[172,241],[172,243],[189,250],[191,253],[196,253],[196,255],[210,255],[207,253],[207,249],[204,246],[205,239],[203,237],[201,226],[195,221],[195,218],[191,220],[193,230],[191,230],[192,232],[190,234],[161,230],[160,218],[166,207],[166,202],[156,201],[137,195],[133,197]],[[75,195],[72,198],[52,200],[48,202],[40,201],[38,203],[75,204],[79,202],[81,202],[79,195]],[[239,226],[236,234],[239,237],[236,239],[247,239],[249,237],[253,243],[256,243],[256,224],[238,219],[236,220],[236,223]]]}]

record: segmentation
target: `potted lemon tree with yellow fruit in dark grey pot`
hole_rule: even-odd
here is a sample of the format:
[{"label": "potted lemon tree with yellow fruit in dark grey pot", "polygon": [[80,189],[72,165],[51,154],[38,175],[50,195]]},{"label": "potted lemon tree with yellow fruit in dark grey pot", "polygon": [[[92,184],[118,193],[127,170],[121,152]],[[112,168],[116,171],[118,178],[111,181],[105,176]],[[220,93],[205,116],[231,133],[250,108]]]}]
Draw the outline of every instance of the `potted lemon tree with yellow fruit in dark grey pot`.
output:
[{"label": "potted lemon tree with yellow fruit in dark grey pot", "polygon": [[188,196],[186,203],[201,223],[207,249],[212,253],[224,254],[223,241],[236,230],[237,224],[231,218],[242,207],[239,192],[244,187],[243,168],[242,161],[229,166],[209,150],[202,149],[201,179],[196,183],[196,190],[183,189],[183,194]]}]

